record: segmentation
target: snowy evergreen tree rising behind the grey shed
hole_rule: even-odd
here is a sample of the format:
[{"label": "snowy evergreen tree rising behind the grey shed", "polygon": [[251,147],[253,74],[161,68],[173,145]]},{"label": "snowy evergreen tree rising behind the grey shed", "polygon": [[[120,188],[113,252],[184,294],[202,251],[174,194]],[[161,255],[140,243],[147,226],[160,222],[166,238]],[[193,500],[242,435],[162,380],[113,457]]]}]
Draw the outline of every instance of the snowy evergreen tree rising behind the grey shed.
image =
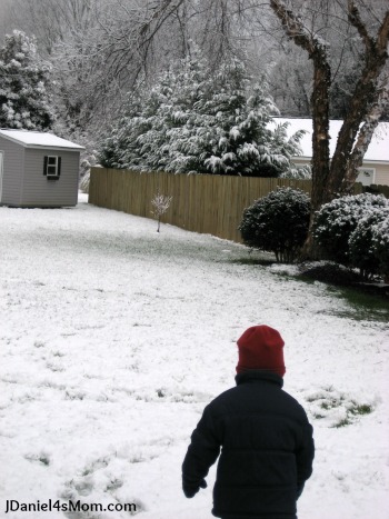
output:
[{"label": "snowy evergreen tree rising behind the grey shed", "polygon": [[6,36],[0,48],[0,127],[50,129],[54,116],[47,83],[50,69],[37,56],[33,40],[23,32]]}]

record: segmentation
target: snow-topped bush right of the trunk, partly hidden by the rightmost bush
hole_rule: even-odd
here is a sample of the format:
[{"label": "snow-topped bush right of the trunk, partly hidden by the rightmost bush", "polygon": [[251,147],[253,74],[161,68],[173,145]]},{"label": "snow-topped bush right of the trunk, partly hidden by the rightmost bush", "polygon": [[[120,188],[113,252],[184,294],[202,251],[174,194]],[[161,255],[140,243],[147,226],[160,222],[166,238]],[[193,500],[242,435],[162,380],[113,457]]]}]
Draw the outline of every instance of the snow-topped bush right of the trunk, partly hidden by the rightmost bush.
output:
[{"label": "snow-topped bush right of the trunk, partly hidden by the rightmost bush", "polygon": [[313,238],[328,259],[351,266],[349,239],[360,220],[375,208],[386,208],[382,194],[362,193],[337,198],[316,213]]}]

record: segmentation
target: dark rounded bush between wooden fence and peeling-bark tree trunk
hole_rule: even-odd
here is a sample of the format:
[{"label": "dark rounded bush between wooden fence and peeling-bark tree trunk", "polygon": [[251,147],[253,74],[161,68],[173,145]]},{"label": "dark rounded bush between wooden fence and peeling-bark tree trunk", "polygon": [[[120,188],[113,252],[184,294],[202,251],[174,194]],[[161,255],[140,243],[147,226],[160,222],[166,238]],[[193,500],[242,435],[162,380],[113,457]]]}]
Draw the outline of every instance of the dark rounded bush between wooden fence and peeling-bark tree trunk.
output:
[{"label": "dark rounded bush between wooden fence and peeling-bark tree trunk", "polygon": [[239,226],[243,242],[292,262],[308,234],[310,200],[299,189],[280,188],[245,209]]}]

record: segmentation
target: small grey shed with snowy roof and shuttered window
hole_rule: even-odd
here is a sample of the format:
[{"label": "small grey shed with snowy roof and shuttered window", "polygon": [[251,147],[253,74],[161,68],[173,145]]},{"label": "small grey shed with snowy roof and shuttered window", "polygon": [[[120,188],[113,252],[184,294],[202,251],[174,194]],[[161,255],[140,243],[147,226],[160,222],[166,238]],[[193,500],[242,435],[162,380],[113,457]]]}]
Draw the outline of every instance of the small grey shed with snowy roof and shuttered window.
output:
[{"label": "small grey shed with snowy roof and shuttered window", "polygon": [[76,206],[83,149],[52,133],[0,129],[0,204]]}]

